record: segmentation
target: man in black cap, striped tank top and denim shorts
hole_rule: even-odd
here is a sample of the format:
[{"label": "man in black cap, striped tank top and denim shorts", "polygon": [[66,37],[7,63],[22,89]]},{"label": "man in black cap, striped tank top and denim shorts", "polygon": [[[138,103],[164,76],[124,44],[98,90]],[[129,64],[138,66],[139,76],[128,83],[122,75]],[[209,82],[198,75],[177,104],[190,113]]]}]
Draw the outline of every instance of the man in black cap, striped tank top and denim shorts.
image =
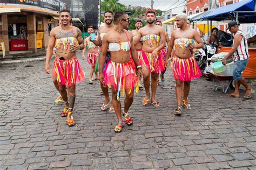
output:
[{"label": "man in black cap, striped tank top and denim shorts", "polygon": [[246,93],[244,98],[251,98],[252,94],[255,92],[248,84],[246,83],[244,77],[241,73],[246,68],[249,59],[248,44],[245,37],[245,34],[239,30],[237,22],[229,22],[226,30],[229,30],[231,33],[234,33],[233,47],[231,51],[225,56],[222,60],[223,65],[226,65],[227,59],[233,56],[234,60],[234,70],[233,70],[233,79],[235,81],[235,91],[234,93],[227,94],[226,96],[239,97],[239,86],[242,84],[246,88]]}]

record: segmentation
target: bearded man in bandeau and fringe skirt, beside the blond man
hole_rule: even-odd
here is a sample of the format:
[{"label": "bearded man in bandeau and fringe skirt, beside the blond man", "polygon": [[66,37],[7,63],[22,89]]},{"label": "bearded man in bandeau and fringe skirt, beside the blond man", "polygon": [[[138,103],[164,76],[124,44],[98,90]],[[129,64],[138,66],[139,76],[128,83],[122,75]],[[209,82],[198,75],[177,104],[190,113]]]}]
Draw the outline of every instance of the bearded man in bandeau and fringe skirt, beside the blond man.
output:
[{"label": "bearded man in bandeau and fringe skirt, beside the blond man", "polygon": [[148,9],[146,11],[147,25],[139,29],[134,44],[138,44],[140,38],[142,38],[143,57],[140,59],[140,63],[142,63],[143,82],[146,91],[146,97],[143,99],[142,104],[149,104],[151,75],[151,104],[153,104],[154,107],[159,107],[160,103],[156,100],[157,77],[158,74],[165,69],[164,56],[159,51],[165,47],[165,31],[162,27],[154,24],[155,20],[156,10]]}]

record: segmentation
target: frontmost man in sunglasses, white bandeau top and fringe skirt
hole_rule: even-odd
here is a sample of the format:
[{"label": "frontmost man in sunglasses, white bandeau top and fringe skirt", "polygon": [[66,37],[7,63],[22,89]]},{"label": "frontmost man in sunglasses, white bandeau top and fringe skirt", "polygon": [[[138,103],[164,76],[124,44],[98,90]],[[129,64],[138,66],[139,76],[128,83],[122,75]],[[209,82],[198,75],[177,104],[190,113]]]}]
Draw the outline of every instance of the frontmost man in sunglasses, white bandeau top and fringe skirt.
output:
[{"label": "frontmost man in sunglasses, white bandeau top and fringe skirt", "polygon": [[[119,11],[115,13],[114,20],[116,22],[114,30],[106,33],[103,37],[102,55],[99,59],[99,79],[100,82],[112,87],[112,103],[118,119],[118,124],[114,128],[114,131],[121,132],[123,121],[121,103],[119,101],[120,93],[122,91],[123,96],[125,94],[123,116],[126,124],[131,125],[132,118],[128,114],[128,111],[133,102],[135,86],[138,92],[138,81],[132,62],[134,61],[136,63],[139,77],[142,75],[142,66],[139,65],[138,56],[133,45],[132,33],[126,31],[130,23],[129,16],[126,12]],[[108,49],[111,58],[103,70]]]}]

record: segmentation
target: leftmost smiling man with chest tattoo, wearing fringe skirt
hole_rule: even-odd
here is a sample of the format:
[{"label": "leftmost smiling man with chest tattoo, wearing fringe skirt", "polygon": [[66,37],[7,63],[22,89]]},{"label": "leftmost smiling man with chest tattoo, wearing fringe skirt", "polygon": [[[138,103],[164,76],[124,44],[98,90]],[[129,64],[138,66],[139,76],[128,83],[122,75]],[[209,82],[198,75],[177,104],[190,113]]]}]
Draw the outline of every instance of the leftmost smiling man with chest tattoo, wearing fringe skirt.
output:
[{"label": "leftmost smiling man with chest tattoo, wearing fringe skirt", "polygon": [[[56,59],[53,62],[52,75],[56,75],[59,84],[59,92],[66,104],[62,116],[67,116],[66,123],[75,125],[72,111],[76,98],[76,83],[84,80],[84,72],[80,66],[76,51],[84,49],[82,32],[70,25],[69,10],[62,10],[59,14],[61,25],[50,32],[49,44],[46,53],[45,73],[50,73],[50,59],[53,47],[56,48]],[[66,93],[68,87],[68,94]]]}]

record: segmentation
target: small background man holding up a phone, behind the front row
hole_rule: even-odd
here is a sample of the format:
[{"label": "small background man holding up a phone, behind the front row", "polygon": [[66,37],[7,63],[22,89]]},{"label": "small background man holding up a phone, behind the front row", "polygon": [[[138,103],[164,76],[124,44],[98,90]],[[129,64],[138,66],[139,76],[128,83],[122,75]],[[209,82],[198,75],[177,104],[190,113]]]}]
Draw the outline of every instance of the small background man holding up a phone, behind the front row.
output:
[{"label": "small background man holding up a phone, behind the front row", "polygon": [[[87,32],[89,34],[94,33],[93,26],[88,26]],[[93,72],[95,72],[95,79],[99,79],[98,78],[98,73],[95,71],[96,60],[97,60],[97,58],[99,56],[99,49],[89,39],[90,39],[90,37],[87,37],[84,40],[84,46],[85,47],[87,46],[87,48],[89,49],[89,52],[88,52],[88,55],[87,55],[87,62],[89,63],[89,65],[91,65],[89,84],[92,84]],[[84,50],[82,52],[82,59],[83,60],[85,59],[85,51],[86,51],[86,48],[84,48]]]}]

